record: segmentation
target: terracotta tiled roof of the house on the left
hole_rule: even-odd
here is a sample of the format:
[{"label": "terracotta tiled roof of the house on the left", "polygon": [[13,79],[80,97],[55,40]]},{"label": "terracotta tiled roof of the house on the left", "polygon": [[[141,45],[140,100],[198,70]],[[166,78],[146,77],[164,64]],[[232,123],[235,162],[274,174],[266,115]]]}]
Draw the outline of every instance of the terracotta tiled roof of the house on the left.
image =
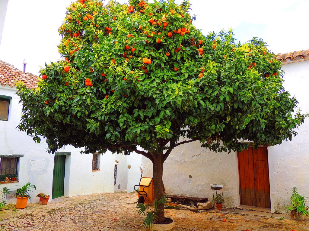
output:
[{"label": "terracotta tiled roof of the house on the left", "polygon": [[14,87],[17,81],[22,81],[28,88],[36,88],[39,77],[31,73],[24,73],[13,65],[0,60],[0,84]]}]

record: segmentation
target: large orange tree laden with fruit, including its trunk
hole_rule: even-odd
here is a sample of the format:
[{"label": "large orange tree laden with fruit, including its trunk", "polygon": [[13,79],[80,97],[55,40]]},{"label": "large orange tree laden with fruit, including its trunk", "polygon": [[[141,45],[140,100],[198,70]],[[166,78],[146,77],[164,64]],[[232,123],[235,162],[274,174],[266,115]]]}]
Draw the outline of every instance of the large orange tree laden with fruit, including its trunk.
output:
[{"label": "large orange tree laden with fruit, including its trunk", "polygon": [[19,129],[46,137],[51,152],[70,144],[149,158],[157,199],[179,145],[231,151],[248,148],[240,140],[291,140],[307,115],[292,116],[298,102],[282,87],[281,63],[261,39],[203,35],[188,9],[173,0],[72,3],[59,28],[64,60],[40,70],[36,89],[18,84]]}]

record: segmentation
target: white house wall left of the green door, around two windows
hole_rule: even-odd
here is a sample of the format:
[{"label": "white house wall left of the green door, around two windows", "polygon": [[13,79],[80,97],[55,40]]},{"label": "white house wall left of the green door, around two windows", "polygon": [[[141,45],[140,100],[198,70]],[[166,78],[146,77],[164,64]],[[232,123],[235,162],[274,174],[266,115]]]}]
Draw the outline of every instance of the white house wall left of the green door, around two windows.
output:
[{"label": "white house wall left of the green door, around two windows", "polygon": [[[22,106],[19,104],[20,98],[14,95],[15,91],[15,88],[0,85],[0,95],[12,97],[8,121],[0,120],[0,154],[24,156],[19,159],[19,182],[1,184],[0,191],[3,187],[13,191],[19,188],[18,185],[23,186],[30,182],[37,187],[37,190],[30,192],[31,202],[36,202],[39,201],[35,197],[38,192],[52,194],[54,156],[46,152],[47,146],[44,140],[36,144],[31,136],[27,136],[26,132],[20,132],[16,128],[20,121]],[[44,160],[44,170],[30,171],[31,160]],[[7,200],[7,203],[16,203],[16,199]]]}]

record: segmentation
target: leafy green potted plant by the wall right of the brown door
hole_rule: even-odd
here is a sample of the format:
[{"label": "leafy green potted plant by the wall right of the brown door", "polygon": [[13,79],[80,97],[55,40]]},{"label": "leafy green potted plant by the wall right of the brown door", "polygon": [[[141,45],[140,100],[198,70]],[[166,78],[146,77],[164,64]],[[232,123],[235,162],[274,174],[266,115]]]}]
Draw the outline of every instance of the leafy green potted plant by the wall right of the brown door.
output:
[{"label": "leafy green potted plant by the wall right of the brown door", "polygon": [[305,197],[299,195],[297,188],[292,189],[290,198],[291,205],[286,206],[287,212],[291,212],[291,218],[298,221],[304,221],[305,216],[309,216],[308,207],[305,204]]}]

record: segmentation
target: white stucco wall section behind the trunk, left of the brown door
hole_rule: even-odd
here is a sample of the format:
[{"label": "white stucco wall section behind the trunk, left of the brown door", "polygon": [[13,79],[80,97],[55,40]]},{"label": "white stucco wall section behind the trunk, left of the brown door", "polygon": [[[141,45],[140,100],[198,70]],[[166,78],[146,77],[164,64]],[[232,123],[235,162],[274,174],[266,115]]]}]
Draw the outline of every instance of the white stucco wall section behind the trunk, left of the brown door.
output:
[{"label": "white stucco wall section behind the trunk, left of the brown door", "polygon": [[[163,165],[163,183],[166,194],[203,197],[211,200],[210,184],[222,184],[226,206],[239,204],[237,155],[215,153],[201,148],[199,141],[176,147]],[[236,172],[237,169],[237,172]],[[143,176],[152,177],[152,163],[143,157]],[[189,177],[191,176],[191,177]],[[215,193],[215,192],[214,192]]]}]

